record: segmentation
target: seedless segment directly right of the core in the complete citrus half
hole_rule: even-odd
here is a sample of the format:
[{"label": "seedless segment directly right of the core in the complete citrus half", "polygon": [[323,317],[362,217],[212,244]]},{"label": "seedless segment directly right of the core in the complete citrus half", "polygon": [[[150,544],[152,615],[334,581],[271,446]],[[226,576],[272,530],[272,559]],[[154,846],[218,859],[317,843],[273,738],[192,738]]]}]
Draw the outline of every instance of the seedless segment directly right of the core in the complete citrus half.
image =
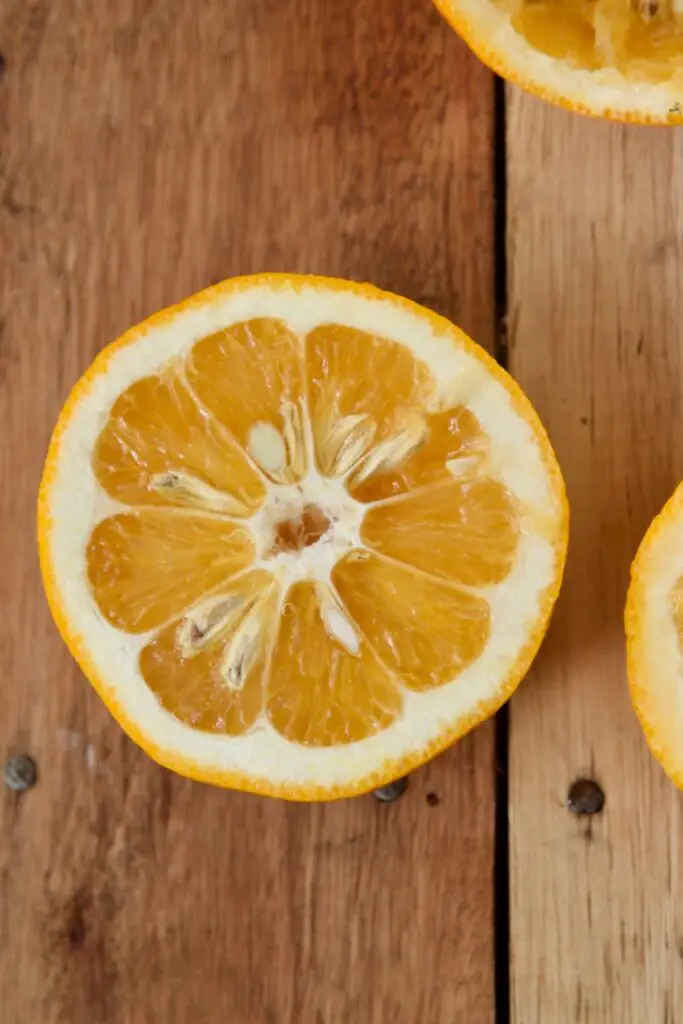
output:
[{"label": "seedless segment directly right of the core in the complete citrus half", "polygon": [[510,495],[487,478],[435,483],[373,506],[360,529],[374,551],[468,587],[505,580],[518,538]]}]

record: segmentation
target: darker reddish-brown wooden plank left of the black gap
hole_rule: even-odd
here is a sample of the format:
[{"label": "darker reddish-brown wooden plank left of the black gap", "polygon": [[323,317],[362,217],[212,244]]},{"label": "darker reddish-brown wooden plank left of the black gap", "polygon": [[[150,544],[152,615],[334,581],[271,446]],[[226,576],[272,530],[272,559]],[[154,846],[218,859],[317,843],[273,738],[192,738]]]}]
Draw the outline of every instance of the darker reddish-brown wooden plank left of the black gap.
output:
[{"label": "darker reddish-brown wooden plank left of the black gap", "polygon": [[62,648],[33,512],[95,352],[230,274],[371,279],[490,344],[488,74],[412,0],[9,0],[0,51],[0,753],[40,772],[0,793],[0,1019],[490,1022],[490,728],[390,807],[173,777]]}]

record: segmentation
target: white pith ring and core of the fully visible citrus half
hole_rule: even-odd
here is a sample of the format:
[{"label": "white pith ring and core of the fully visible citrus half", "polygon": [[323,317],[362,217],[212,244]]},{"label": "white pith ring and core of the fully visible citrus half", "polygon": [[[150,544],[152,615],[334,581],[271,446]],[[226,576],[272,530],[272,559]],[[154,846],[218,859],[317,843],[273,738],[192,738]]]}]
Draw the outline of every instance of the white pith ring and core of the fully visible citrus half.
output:
[{"label": "white pith ring and core of the fully visible citrus half", "polygon": [[[86,578],[84,552],[94,522],[112,507],[90,465],[94,441],[118,395],[135,380],[184,353],[200,338],[220,328],[256,316],[283,319],[306,334],[312,328],[338,323],[392,338],[409,347],[431,370],[438,393],[449,402],[462,401],[479,420],[492,444],[490,465],[524,510],[522,534],[514,567],[506,581],[485,596],[492,613],[490,640],[481,656],[454,682],[435,690],[403,690],[403,715],[384,731],[359,742],[313,749],[284,739],[262,719],[239,737],[209,734],[183,725],[168,714],[142,680],[137,658],[148,636],[129,636],[99,614]],[[305,481],[307,502],[319,501],[333,512],[334,525],[321,542],[296,554],[267,562],[285,583],[309,578],[329,580],[340,554],[358,545],[361,509],[340,480],[314,472]],[[281,501],[296,503],[294,486],[271,488],[266,505],[252,521],[259,532]],[[471,719],[479,705],[495,700],[501,681],[524,648],[537,625],[541,601],[553,584],[556,553],[552,536],[535,534],[526,523],[562,519],[559,499],[543,461],[531,426],[517,413],[510,394],[484,366],[466,351],[456,328],[432,325],[388,298],[319,287],[258,287],[216,297],[204,307],[187,308],[133,344],[116,351],[105,374],[74,409],[61,439],[56,475],[51,485],[49,550],[67,618],[80,635],[98,675],[108,680],[125,716],[138,723],[151,743],[169,757],[181,755],[205,770],[267,778],[273,785],[340,786],[381,769],[411,752],[437,740],[444,731]],[[260,519],[259,519],[260,517]],[[557,527],[559,529],[559,525]],[[256,563],[260,564],[260,561]],[[343,626],[338,624],[340,630]],[[347,635],[347,639],[349,639]],[[350,640],[349,640],[350,642]]]}]

